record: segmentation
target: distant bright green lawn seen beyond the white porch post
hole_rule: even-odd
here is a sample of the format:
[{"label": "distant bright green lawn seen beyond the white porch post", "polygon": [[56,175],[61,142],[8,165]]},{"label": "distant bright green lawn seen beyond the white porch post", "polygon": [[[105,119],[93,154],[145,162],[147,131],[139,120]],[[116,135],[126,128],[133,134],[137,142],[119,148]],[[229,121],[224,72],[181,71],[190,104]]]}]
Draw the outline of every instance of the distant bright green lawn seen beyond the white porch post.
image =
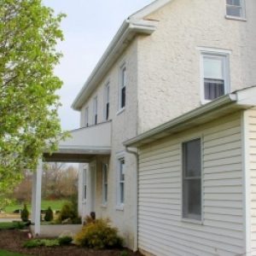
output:
[{"label": "distant bright green lawn seen beyond the white porch post", "polygon": [[[52,210],[58,211],[58,210],[61,210],[61,207],[65,202],[66,202],[65,200],[57,200],[57,201],[43,200],[41,204],[41,209],[46,210],[48,207],[51,207]],[[4,211],[7,213],[13,213],[15,210],[20,208],[22,209],[23,205],[12,205],[9,207],[5,207]],[[28,208],[28,211],[31,212],[30,204],[27,204],[27,208]]]}]

